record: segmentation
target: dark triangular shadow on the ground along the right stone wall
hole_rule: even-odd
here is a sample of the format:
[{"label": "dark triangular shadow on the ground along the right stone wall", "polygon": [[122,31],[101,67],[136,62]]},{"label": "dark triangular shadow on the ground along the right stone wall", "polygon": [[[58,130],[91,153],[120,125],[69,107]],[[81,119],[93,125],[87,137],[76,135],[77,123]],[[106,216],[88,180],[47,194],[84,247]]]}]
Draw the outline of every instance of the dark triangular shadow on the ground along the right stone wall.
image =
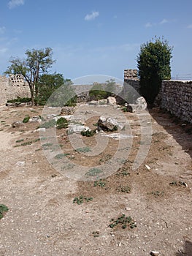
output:
[{"label": "dark triangular shadow on the ground along the right stone wall", "polygon": [[158,108],[149,110],[149,113],[192,158],[192,124],[186,124],[185,121],[175,118],[170,113],[164,113]]}]

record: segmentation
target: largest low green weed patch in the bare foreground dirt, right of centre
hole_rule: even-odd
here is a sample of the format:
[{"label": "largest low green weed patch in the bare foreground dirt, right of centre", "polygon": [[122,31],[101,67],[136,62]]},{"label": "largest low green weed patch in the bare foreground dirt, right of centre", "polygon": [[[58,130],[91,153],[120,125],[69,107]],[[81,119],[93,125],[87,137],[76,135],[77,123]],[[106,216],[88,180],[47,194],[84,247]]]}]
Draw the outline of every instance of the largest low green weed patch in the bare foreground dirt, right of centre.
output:
[{"label": "largest low green weed patch in the bare foreground dirt, right of centre", "polygon": [[130,227],[131,229],[134,227],[137,227],[136,222],[134,222],[134,219],[132,219],[130,216],[126,217],[125,214],[122,214],[118,219],[111,219],[110,222],[112,222],[109,227],[113,228],[116,226],[120,226],[121,228],[125,229],[126,227]]}]

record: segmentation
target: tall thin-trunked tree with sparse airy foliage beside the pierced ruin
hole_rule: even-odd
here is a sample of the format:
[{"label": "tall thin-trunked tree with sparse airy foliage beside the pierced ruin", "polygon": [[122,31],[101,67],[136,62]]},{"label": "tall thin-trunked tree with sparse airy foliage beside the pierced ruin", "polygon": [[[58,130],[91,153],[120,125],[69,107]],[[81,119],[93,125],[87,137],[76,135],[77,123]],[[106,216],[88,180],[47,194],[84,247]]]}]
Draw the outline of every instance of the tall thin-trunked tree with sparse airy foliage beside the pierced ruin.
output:
[{"label": "tall thin-trunked tree with sparse airy foliage beside the pierced ruin", "polygon": [[39,93],[39,78],[47,73],[55,62],[52,59],[53,50],[51,48],[26,50],[26,59],[12,58],[11,65],[7,68],[5,74],[21,74],[28,83],[31,100],[34,105],[34,98]]}]

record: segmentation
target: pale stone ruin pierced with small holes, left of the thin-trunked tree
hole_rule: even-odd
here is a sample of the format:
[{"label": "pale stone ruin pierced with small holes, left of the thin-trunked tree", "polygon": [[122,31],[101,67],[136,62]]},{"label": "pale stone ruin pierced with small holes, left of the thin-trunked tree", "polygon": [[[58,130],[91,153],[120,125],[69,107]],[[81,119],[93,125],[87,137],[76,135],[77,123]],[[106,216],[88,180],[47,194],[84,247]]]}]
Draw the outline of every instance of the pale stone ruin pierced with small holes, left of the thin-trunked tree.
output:
[{"label": "pale stone ruin pierced with small holes, left of the thin-trunked tree", "polygon": [[0,75],[0,105],[7,102],[7,99],[17,97],[30,97],[29,86],[22,75],[10,75],[9,78]]}]

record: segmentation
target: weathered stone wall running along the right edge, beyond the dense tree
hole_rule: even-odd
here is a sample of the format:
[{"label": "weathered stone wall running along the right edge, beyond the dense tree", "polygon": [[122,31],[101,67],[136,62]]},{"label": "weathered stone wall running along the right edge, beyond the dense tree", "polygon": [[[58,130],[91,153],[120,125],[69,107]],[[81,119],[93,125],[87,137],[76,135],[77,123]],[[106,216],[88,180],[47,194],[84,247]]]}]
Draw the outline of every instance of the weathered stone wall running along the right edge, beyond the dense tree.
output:
[{"label": "weathered stone wall running along the right edge, beyond the dense tree", "polygon": [[164,80],[161,108],[192,124],[192,81]]}]

